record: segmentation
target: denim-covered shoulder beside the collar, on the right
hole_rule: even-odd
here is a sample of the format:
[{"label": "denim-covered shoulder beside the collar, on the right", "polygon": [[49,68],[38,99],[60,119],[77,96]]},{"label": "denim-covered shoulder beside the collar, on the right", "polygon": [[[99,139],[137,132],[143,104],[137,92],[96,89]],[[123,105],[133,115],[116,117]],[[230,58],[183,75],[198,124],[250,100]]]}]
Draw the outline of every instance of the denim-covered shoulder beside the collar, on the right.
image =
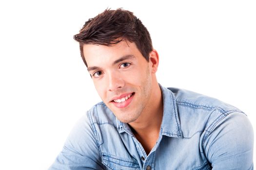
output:
[{"label": "denim-covered shoulder beside the collar, on the right", "polygon": [[246,115],[228,103],[193,91],[168,88],[175,96],[184,137],[198,132],[212,132],[220,124],[228,124]]}]

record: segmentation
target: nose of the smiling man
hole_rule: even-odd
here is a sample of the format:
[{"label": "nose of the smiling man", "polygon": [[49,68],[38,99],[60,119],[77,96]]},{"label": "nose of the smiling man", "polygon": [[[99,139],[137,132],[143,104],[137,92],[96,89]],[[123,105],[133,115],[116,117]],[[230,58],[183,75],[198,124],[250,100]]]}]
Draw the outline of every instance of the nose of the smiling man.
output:
[{"label": "nose of the smiling man", "polygon": [[115,91],[124,86],[124,80],[118,73],[110,73],[108,76],[108,90]]}]

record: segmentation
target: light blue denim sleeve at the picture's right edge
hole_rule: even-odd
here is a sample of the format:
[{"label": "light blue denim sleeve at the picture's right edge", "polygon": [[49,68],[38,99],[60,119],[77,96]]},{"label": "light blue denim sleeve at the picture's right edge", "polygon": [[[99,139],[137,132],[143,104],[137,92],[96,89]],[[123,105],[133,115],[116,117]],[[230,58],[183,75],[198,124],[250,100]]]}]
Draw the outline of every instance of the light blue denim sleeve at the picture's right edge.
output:
[{"label": "light blue denim sleeve at the picture's right edge", "polygon": [[254,133],[243,113],[231,113],[216,124],[204,150],[212,170],[253,170]]}]

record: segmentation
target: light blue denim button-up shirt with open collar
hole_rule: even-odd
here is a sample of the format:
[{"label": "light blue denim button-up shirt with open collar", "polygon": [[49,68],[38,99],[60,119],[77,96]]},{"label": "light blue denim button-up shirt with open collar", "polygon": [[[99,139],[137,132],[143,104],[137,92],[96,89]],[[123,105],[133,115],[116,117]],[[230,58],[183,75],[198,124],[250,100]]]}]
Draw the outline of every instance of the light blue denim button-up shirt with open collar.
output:
[{"label": "light blue denim button-up shirt with open collar", "polygon": [[129,125],[100,102],[79,120],[49,170],[253,170],[253,129],[242,111],[160,88],[163,119],[148,155]]}]

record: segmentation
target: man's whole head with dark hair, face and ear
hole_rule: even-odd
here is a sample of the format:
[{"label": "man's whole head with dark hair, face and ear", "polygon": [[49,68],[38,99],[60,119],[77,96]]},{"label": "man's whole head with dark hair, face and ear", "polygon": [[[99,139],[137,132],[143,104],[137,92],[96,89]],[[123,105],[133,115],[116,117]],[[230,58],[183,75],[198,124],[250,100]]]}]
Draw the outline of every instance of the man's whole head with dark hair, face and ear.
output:
[{"label": "man's whole head with dark hair, face and ear", "polygon": [[139,122],[155,112],[158,53],[140,20],[129,11],[106,10],[75,39],[100,98],[120,121]]}]

